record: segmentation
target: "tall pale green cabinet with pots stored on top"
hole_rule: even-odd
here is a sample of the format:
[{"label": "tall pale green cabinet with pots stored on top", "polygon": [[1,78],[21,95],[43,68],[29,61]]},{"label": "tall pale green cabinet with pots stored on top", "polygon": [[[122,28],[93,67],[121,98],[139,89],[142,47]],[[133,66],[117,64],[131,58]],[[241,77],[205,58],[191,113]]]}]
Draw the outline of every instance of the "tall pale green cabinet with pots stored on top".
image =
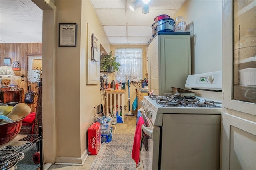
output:
[{"label": "tall pale green cabinet with pots stored on top", "polygon": [[185,88],[191,74],[190,34],[160,34],[148,47],[150,90],[171,94],[172,88]]}]

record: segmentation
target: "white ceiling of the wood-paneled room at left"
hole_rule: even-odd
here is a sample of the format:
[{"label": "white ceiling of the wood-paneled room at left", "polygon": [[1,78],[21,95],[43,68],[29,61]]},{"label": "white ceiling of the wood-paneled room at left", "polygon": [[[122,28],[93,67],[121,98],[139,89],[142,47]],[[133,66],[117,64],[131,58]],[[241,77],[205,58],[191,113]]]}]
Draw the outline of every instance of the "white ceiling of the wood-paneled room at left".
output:
[{"label": "white ceiling of the wood-paneled room at left", "polygon": [[42,10],[31,0],[0,0],[0,43],[42,42]]}]

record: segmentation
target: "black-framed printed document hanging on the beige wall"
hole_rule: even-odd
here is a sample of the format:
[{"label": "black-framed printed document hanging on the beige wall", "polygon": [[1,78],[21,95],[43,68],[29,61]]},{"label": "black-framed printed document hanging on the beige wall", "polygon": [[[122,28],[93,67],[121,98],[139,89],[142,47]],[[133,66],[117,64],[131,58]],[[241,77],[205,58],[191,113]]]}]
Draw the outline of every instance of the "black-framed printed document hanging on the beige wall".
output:
[{"label": "black-framed printed document hanging on the beige wall", "polygon": [[76,47],[76,23],[59,23],[59,47]]}]

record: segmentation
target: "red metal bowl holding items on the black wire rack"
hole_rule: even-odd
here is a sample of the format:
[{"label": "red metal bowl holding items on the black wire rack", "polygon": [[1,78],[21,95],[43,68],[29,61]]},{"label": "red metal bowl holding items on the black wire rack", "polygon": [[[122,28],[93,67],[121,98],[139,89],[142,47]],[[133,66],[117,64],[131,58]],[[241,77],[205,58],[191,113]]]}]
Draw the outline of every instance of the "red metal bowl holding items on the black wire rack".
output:
[{"label": "red metal bowl holding items on the black wire rack", "polygon": [[0,124],[0,145],[7,143],[14,139],[18,133],[20,133],[22,119],[16,120],[12,123],[2,123]]}]

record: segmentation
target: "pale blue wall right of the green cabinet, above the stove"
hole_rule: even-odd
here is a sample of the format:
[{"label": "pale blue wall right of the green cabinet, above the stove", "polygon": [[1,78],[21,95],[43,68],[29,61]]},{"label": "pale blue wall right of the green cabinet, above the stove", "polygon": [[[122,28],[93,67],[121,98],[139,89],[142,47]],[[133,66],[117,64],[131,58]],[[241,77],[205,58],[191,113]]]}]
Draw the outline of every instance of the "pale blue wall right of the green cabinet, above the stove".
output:
[{"label": "pale blue wall right of the green cabinet, above the stove", "polygon": [[222,0],[186,0],[176,16],[191,32],[192,74],[222,70]]}]

